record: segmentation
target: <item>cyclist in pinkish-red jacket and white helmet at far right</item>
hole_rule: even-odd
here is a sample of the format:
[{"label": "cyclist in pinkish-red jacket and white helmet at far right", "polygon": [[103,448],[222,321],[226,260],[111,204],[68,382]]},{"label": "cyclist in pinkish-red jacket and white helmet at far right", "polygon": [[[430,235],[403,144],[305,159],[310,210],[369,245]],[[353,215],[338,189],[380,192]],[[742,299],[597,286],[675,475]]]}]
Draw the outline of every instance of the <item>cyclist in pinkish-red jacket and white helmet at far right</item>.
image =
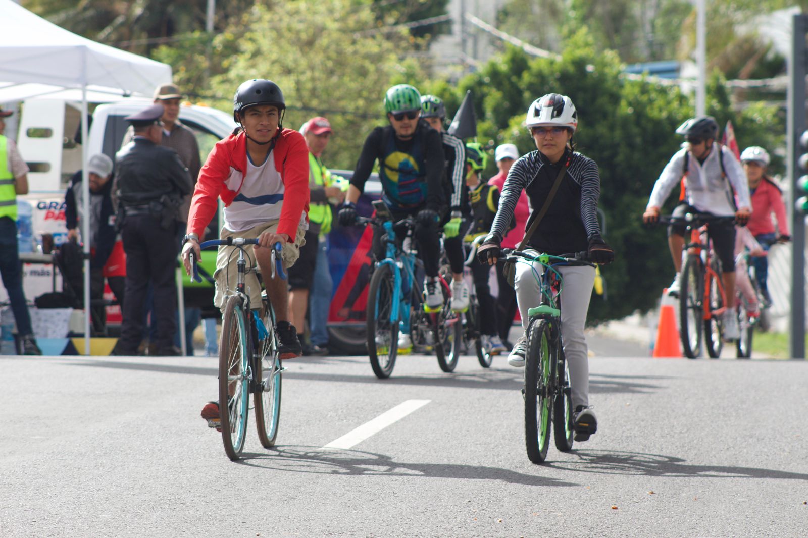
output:
[{"label": "cyclist in pinkish-red jacket and white helmet at far right", "polygon": [[[747,173],[749,182],[749,192],[751,194],[752,215],[747,223],[747,228],[760,242],[764,250],[768,250],[775,242],[789,242],[789,222],[785,216],[785,204],[783,204],[783,194],[780,187],[766,175],[766,166],[769,163],[768,152],[760,146],[750,146],[741,153],[741,163],[743,170]],[[772,222],[772,212],[777,219],[776,233]],[[768,293],[766,277],[768,275],[768,258],[752,258],[752,265],[755,267],[760,291],[763,292],[764,306],[772,305],[772,296]]]}]

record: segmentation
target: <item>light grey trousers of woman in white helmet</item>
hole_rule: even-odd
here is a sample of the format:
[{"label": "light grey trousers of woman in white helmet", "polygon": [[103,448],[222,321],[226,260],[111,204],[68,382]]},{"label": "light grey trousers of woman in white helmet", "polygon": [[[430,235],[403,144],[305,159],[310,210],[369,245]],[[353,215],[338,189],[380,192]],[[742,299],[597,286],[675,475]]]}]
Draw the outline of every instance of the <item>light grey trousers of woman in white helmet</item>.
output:
[{"label": "light grey trousers of woman in white helmet", "polygon": [[[530,251],[535,252],[535,251]],[[536,253],[538,255],[538,253]],[[522,317],[522,326],[528,328],[528,309],[538,306],[541,292],[537,283],[537,275],[541,275],[544,267],[539,263],[520,262],[516,264],[516,302]],[[536,272],[533,272],[533,271]],[[593,267],[558,267],[564,279],[561,292],[561,337],[566,355],[567,368],[570,371],[570,388],[572,389],[572,405],[589,405],[589,357],[587,340],[583,334],[583,326],[587,322],[587,310],[595,284]]]}]

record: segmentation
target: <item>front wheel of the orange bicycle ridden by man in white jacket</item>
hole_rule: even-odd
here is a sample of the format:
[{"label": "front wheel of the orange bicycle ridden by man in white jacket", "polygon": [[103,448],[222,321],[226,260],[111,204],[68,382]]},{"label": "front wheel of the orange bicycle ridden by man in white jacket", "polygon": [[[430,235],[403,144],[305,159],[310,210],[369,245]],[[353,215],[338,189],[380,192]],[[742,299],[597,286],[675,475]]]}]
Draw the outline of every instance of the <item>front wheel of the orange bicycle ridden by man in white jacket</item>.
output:
[{"label": "front wheel of the orange bicycle ridden by man in white jacket", "polygon": [[701,355],[701,330],[704,326],[703,275],[701,258],[689,254],[682,267],[679,292],[680,339],[684,355],[688,359],[697,359]]}]

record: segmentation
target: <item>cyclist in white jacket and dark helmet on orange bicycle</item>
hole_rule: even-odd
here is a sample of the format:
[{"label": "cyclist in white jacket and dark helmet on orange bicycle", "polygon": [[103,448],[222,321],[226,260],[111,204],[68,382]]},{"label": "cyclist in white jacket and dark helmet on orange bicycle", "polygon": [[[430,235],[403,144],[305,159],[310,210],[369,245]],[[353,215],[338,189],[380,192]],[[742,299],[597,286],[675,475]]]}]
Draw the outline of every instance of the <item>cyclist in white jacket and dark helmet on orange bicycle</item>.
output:
[{"label": "cyclist in white jacket and dark helmet on orange bicycle", "polygon": [[[687,212],[699,212],[713,216],[735,216],[739,225],[745,225],[751,214],[746,174],[734,154],[716,141],[716,120],[712,116],[697,116],[681,124],[676,133],[686,137],[687,143],[674,153],[662,174],[659,174],[642,220],[646,224],[657,221],[659,208],[684,177],[685,204],[675,208],[673,215],[684,216]],[[684,224],[671,225],[667,230],[668,246],[676,270],[673,284],[668,288],[671,296],[679,295],[684,233]],[[727,307],[723,316],[724,338],[734,340],[740,336],[738,320],[734,316],[735,228],[731,222],[712,223],[708,225],[708,233],[723,269]]]}]

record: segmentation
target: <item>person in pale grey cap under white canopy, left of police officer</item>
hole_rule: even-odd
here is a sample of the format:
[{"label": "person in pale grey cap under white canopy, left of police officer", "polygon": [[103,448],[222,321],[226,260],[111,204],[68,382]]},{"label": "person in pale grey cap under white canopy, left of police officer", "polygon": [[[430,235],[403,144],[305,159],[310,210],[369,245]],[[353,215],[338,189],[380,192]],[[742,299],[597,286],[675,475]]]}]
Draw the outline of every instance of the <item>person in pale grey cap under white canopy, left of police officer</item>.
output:
[{"label": "person in pale grey cap under white canopy, left of police officer", "polygon": [[[115,208],[112,204],[112,159],[103,153],[87,160],[87,179],[90,182],[90,298],[103,297],[104,277],[115,294],[121,308],[126,286],[126,258],[123,244],[115,229]],[[69,243],[81,237],[84,204],[82,197],[82,170],[71,179],[65,192],[65,225]],[[77,247],[78,248],[78,247]],[[103,306],[93,309],[93,328],[103,331]]]}]

